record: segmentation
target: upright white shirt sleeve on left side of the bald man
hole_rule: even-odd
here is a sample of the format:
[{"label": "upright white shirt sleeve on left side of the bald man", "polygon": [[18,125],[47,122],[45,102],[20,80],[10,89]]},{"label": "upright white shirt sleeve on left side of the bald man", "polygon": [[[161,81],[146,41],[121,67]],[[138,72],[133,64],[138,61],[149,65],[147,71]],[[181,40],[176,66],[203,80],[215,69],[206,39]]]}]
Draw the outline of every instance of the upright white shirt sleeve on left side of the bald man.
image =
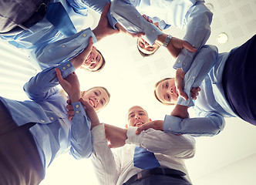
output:
[{"label": "upright white shirt sleeve on left side of the bald man", "polygon": [[91,160],[96,172],[99,184],[114,185],[120,176],[118,159],[114,157],[110,150],[106,136],[104,124],[93,127],[93,154]]}]

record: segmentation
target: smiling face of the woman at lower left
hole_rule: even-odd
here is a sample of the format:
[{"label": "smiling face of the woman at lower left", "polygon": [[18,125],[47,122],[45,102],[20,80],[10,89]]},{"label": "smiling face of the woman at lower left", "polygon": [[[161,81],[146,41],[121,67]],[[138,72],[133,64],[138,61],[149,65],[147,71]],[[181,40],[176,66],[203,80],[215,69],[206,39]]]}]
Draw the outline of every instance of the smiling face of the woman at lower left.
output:
[{"label": "smiling face of the woman at lower left", "polygon": [[82,98],[85,99],[98,113],[109,103],[109,94],[101,87],[93,87],[82,93]]}]

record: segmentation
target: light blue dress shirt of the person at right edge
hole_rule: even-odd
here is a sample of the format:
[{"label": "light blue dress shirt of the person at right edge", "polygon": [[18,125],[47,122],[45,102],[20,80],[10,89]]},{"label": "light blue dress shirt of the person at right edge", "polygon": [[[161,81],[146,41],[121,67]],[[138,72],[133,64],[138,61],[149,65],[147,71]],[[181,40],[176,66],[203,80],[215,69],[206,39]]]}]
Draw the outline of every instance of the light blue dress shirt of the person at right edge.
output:
[{"label": "light blue dress shirt of the person at right edge", "polygon": [[190,70],[184,77],[184,92],[190,95],[192,87],[200,86],[194,101],[178,98],[177,104],[194,106],[197,118],[181,119],[165,116],[163,130],[171,133],[190,133],[192,136],[214,136],[224,129],[225,116],[237,116],[227,103],[222,87],[222,73],[228,56],[234,52],[218,54],[214,45],[204,45],[195,56]]}]

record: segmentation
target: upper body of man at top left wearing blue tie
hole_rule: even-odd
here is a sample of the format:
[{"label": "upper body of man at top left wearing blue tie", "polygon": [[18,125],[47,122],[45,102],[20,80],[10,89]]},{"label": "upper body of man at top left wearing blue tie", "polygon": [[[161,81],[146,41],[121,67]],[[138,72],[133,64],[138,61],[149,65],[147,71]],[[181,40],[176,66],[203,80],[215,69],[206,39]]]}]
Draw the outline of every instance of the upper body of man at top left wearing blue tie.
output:
[{"label": "upper body of man at top left wearing blue tie", "polygon": [[[59,61],[70,59],[73,55],[79,54],[87,47],[88,40],[91,36],[93,36],[93,42],[95,43],[106,35],[118,32],[107,24],[105,27],[98,27],[98,30],[96,30],[97,28],[93,31],[90,29],[83,30],[83,25],[86,22],[88,14],[88,7],[93,8],[99,13],[103,13],[103,8],[109,3],[108,0],[52,0],[49,2],[47,11],[49,11],[50,5],[55,5],[58,2],[68,15],[66,19],[62,20],[64,16],[59,12],[53,11],[52,15],[48,15],[49,12],[46,12],[44,18],[29,27],[29,29],[21,30],[18,33],[7,32],[0,35],[2,39],[7,40],[15,47],[28,50],[30,58],[38,62],[41,69],[56,66]],[[102,23],[106,19],[107,12],[108,8],[101,18]],[[54,22],[49,18],[58,17],[58,15],[62,16],[59,22],[64,22],[64,25],[58,25],[60,24],[59,22]],[[111,18],[109,14],[108,18],[110,25],[113,26],[116,24],[115,19]],[[107,22],[107,19],[105,21]],[[66,28],[69,32],[64,32],[63,28]],[[96,49],[93,49],[92,55],[89,55],[89,59],[86,60],[83,68],[90,71],[97,71],[102,69],[104,64],[103,55]]]}]

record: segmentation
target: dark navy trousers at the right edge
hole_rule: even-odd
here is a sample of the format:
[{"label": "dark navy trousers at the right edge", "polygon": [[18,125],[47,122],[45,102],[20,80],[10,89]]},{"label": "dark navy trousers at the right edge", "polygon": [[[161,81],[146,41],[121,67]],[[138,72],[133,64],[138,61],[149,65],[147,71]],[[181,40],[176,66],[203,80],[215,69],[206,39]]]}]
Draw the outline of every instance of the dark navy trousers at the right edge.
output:
[{"label": "dark navy trousers at the right edge", "polygon": [[222,84],[234,113],[256,126],[256,35],[228,57]]}]

